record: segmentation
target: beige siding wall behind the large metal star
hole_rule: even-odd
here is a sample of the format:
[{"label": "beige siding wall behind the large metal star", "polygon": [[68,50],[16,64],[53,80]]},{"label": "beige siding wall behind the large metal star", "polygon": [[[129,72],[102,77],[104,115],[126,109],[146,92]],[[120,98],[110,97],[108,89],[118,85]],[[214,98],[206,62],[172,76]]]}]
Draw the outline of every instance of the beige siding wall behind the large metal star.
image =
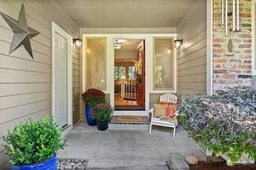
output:
[{"label": "beige siding wall behind the large metal star", "polygon": [[[52,115],[52,21],[78,38],[79,27],[54,1],[0,0],[0,11],[18,20],[24,4],[28,27],[40,32],[30,39],[34,59],[23,46],[9,54],[14,33],[0,16],[0,169],[10,169],[2,136],[28,117]],[[72,45],[73,124],[80,120],[80,48]]]}]

